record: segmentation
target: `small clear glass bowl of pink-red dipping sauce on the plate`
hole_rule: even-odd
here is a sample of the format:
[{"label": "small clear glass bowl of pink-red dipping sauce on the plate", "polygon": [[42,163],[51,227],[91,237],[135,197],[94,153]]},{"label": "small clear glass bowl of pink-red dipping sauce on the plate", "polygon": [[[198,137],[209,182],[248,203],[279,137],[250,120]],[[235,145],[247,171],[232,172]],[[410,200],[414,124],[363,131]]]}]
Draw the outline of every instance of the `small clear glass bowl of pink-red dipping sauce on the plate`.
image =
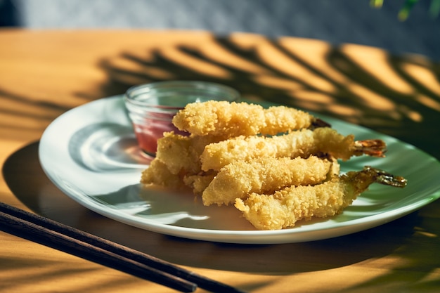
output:
[{"label": "small clear glass bowl of pink-red dipping sauce on the plate", "polygon": [[124,103],[134,127],[138,144],[150,157],[155,157],[157,139],[167,131],[188,135],[172,124],[176,112],[188,103],[207,100],[237,101],[235,89],[212,82],[154,82],[133,86],[124,95]]}]

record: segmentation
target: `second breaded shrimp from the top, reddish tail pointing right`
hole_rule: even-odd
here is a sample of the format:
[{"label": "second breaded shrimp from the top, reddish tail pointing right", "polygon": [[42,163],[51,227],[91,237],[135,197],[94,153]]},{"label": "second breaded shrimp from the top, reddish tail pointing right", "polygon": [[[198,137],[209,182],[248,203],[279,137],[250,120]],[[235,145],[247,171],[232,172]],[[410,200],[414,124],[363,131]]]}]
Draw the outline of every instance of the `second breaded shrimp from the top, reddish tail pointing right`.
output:
[{"label": "second breaded shrimp from the top, reddish tail pointing right", "polygon": [[[202,170],[218,171],[231,162],[249,161],[257,157],[309,157],[325,153],[336,159],[347,160],[363,154],[383,156],[383,141],[363,142],[354,141],[353,135],[343,136],[328,127],[302,129],[282,136],[238,136],[211,143],[205,147],[200,159]],[[368,145],[368,148],[365,145]]]}]

